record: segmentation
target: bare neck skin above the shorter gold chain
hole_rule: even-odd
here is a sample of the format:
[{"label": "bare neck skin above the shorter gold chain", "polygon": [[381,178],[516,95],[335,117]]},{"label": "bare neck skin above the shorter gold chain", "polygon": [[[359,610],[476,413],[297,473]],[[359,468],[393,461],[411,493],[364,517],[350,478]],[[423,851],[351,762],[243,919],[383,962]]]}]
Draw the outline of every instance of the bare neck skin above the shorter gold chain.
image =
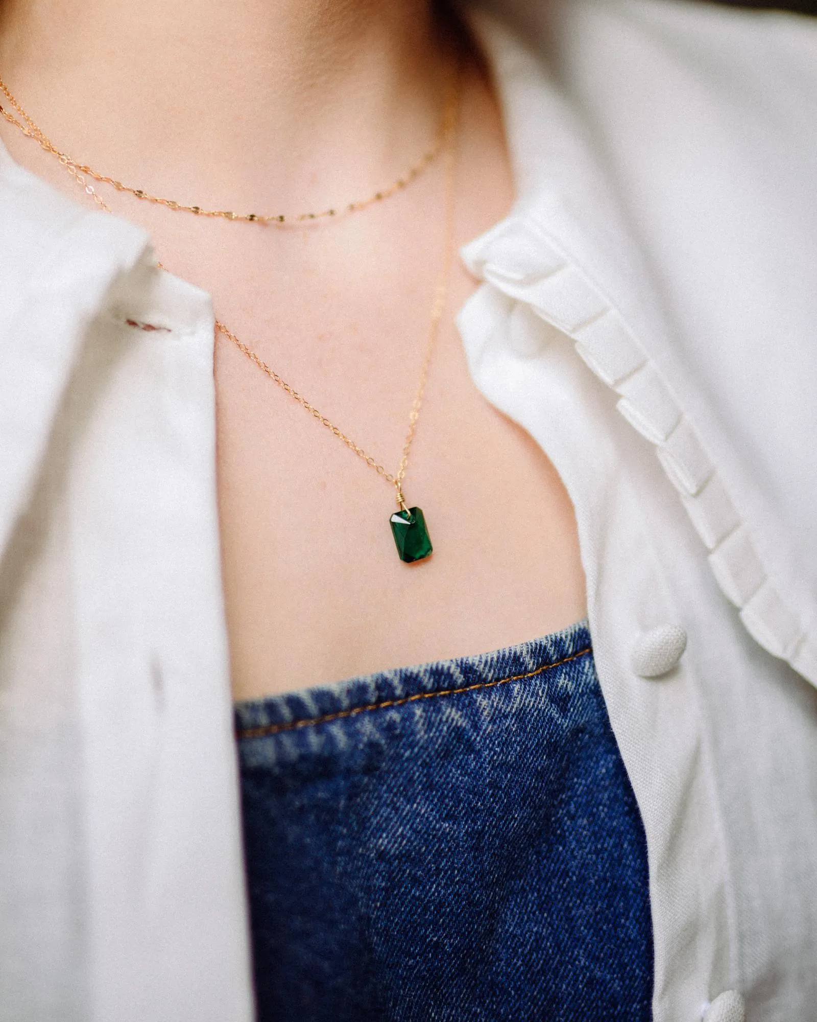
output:
[{"label": "bare neck skin above the shorter gold chain", "polygon": [[196,201],[308,206],[429,141],[431,0],[5,0],[0,75],[71,155]]}]

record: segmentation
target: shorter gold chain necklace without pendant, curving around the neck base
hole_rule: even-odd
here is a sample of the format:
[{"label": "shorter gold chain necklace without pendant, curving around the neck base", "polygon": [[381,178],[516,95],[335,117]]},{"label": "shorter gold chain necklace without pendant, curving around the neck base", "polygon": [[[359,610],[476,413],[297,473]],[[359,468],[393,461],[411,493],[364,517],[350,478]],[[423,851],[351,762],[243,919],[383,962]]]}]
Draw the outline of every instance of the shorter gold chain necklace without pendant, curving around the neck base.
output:
[{"label": "shorter gold chain necklace without pendant, curving around the neck base", "polygon": [[[15,128],[18,128],[23,135],[28,135],[30,138],[35,139],[35,141],[37,141],[39,145],[50,155],[56,156],[60,164],[67,168],[75,177],[78,174],[87,175],[100,184],[110,185],[112,188],[115,188],[116,191],[128,192],[135,198],[141,199],[144,202],[153,202],[155,205],[163,205],[169,210],[174,210],[178,213],[192,213],[197,217],[222,217],[225,220],[238,220],[244,221],[245,223],[293,224],[303,223],[304,221],[322,220],[325,217],[336,217],[341,214],[356,213],[358,210],[365,210],[367,206],[373,205],[375,202],[380,202],[392,195],[396,195],[398,191],[402,191],[403,188],[419,178],[423,171],[434,162],[445,145],[446,126],[450,122],[452,110],[456,105],[458,87],[453,76],[449,75],[445,80],[443,89],[444,99],[433,145],[427,152],[423,153],[423,156],[417,164],[411,167],[405,174],[402,175],[402,177],[397,178],[393,184],[375,192],[375,194],[370,195],[369,198],[358,199],[354,202],[347,202],[343,206],[332,206],[328,210],[323,210],[320,213],[298,213],[290,215],[282,213],[233,213],[231,210],[204,210],[199,205],[187,205],[184,202],[177,202],[174,199],[161,198],[158,195],[151,195],[142,188],[132,188],[130,185],[126,185],[122,181],[117,181],[115,178],[108,177],[105,174],[100,174],[93,168],[88,167],[87,164],[78,162],[76,159],[73,159],[69,155],[67,155],[67,153],[60,151],[48,138],[45,132],[34,123],[31,117],[29,117],[26,110],[20,106],[2,78],[0,78],[0,92],[3,93],[14,110],[16,110],[22,119],[22,123],[20,123],[13,113],[0,105],[0,113],[3,114],[6,121],[8,121],[9,124],[14,125]],[[88,189],[89,186],[85,187]],[[89,191],[89,194],[93,195],[93,186],[90,186],[90,188],[92,190]]]}]

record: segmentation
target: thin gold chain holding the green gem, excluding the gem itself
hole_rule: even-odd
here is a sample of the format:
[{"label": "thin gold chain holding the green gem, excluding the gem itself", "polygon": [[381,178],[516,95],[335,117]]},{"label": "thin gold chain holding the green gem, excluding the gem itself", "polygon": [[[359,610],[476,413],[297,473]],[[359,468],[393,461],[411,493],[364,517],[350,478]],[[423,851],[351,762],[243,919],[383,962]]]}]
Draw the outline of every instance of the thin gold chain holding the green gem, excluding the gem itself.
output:
[{"label": "thin gold chain holding the green gem, excluding the gem itself", "polygon": [[[453,78],[453,91],[452,100],[446,100],[444,104],[444,119],[441,125],[441,138],[440,145],[437,151],[444,151],[445,154],[445,213],[444,213],[444,244],[443,244],[443,256],[442,256],[442,266],[440,268],[439,277],[437,279],[437,285],[434,289],[434,301],[431,308],[431,320],[429,323],[428,339],[426,341],[426,350],[423,356],[423,363],[420,369],[420,382],[417,387],[417,392],[415,394],[415,400],[412,404],[412,411],[408,415],[408,432],[405,435],[405,443],[402,449],[402,457],[400,458],[400,464],[397,467],[397,471],[392,474],[388,472],[386,468],[380,464],[372,455],[367,454],[367,452],[358,447],[349,436],[346,435],[338,426],[336,426],[330,419],[328,419],[322,412],[320,412],[315,405],[311,405],[305,398],[303,398],[298,391],[290,386],[286,380],[283,379],[271,366],[269,366],[259,355],[257,355],[249,345],[245,344],[242,340],[233,333],[221,320],[215,320],[215,328],[225,337],[231,340],[239,351],[243,352],[244,355],[253,362],[258,369],[265,372],[270,379],[277,383],[283,390],[285,390],[291,398],[293,398],[301,406],[313,415],[318,421],[326,426],[339,440],[342,440],[346,447],[357,455],[358,458],[363,459],[367,465],[375,469],[378,475],[383,476],[383,478],[391,483],[396,491],[397,506],[403,510],[407,511],[405,501],[402,495],[402,480],[405,478],[405,470],[408,465],[408,454],[412,449],[412,444],[415,438],[415,432],[417,431],[417,422],[420,418],[420,408],[423,404],[423,396],[426,389],[426,380],[428,378],[429,366],[431,365],[431,356],[434,351],[434,345],[437,339],[437,334],[439,332],[440,320],[442,319],[442,314],[445,311],[445,303],[448,294],[448,282],[450,279],[451,263],[453,262],[453,220],[454,220],[454,184],[456,177],[456,127],[460,112],[460,89],[459,89],[459,77]],[[17,100],[11,95],[6,86],[3,84],[2,79],[0,79],[0,90],[9,99],[20,117],[26,121],[29,126],[28,129],[21,125],[15,118],[11,117],[6,110],[0,107],[0,112],[3,113],[5,119],[11,124],[15,125],[23,135],[29,138],[33,138],[40,143],[40,145],[46,149],[47,152],[56,156],[59,162],[65,168],[65,170],[75,179],[78,185],[85,190],[85,192],[106,213],[113,213],[111,207],[105,202],[102,196],[96,191],[93,185],[88,184],[85,177],[88,174],[96,181],[102,181],[107,184],[115,183],[101,175],[96,174],[89,167],[77,164],[73,159],[69,159],[63,153],[60,153],[56,148],[48,143],[45,135],[40,131],[37,125],[31,120],[31,118],[22,110],[21,106],[18,104]],[[44,144],[47,143],[47,144]],[[436,153],[435,153],[436,155]],[[430,160],[429,160],[430,162]],[[122,190],[122,189],[121,189]],[[130,189],[125,189],[130,190]],[[184,207],[178,206],[174,203],[162,202],[158,200],[163,205],[167,205],[172,210],[182,210]],[[371,201],[371,200],[370,200]],[[368,203],[367,203],[368,204]],[[223,216],[223,214],[208,214],[201,211],[205,216]],[[248,219],[240,217],[230,217],[232,220]],[[261,220],[262,218],[253,218],[256,220]],[[161,263],[158,266],[164,270],[165,267]]]}]

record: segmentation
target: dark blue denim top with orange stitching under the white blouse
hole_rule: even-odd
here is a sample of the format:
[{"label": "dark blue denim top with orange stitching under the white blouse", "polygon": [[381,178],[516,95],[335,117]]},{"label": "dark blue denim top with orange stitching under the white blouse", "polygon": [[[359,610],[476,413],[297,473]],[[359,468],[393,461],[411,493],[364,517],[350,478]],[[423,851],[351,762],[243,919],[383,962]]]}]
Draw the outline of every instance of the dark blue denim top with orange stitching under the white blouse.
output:
[{"label": "dark blue denim top with orange stitching under the white blouse", "polygon": [[652,1017],[643,827],[584,622],[236,716],[260,1022]]}]

